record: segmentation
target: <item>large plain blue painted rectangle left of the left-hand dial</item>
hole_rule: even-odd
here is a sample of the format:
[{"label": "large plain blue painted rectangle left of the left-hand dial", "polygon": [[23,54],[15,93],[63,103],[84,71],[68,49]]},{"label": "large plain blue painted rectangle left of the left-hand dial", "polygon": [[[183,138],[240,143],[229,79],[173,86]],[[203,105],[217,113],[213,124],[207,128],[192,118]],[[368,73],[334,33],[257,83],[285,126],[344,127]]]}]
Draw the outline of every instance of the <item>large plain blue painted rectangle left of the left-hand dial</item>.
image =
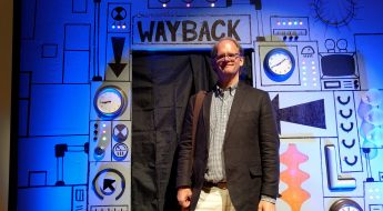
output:
[{"label": "large plain blue painted rectangle left of the left-hand dial", "polygon": [[89,84],[34,84],[31,89],[30,135],[89,133]]}]

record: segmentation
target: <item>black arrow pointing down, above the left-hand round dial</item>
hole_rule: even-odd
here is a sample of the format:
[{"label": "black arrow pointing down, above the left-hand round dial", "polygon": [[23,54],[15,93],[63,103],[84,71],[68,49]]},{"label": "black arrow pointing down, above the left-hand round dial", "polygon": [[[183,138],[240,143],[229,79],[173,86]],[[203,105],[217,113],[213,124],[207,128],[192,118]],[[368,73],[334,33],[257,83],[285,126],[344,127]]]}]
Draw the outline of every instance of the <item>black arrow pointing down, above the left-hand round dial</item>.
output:
[{"label": "black arrow pointing down, above the left-hand round dial", "polygon": [[122,70],[125,68],[127,63],[121,63],[121,57],[123,51],[123,46],[125,43],[125,38],[112,37],[112,47],[114,53],[114,63],[108,63],[109,67],[114,72],[115,77],[119,78]]}]

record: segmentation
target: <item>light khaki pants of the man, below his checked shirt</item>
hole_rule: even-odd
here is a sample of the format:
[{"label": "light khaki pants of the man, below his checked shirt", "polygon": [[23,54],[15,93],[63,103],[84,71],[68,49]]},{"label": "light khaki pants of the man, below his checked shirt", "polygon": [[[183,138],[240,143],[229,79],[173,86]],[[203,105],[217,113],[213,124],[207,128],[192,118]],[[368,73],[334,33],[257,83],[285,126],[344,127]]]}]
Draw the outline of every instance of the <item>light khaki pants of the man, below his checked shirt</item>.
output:
[{"label": "light khaki pants of the man, below his checked shirt", "polygon": [[195,211],[235,211],[229,190],[218,187],[202,188]]}]

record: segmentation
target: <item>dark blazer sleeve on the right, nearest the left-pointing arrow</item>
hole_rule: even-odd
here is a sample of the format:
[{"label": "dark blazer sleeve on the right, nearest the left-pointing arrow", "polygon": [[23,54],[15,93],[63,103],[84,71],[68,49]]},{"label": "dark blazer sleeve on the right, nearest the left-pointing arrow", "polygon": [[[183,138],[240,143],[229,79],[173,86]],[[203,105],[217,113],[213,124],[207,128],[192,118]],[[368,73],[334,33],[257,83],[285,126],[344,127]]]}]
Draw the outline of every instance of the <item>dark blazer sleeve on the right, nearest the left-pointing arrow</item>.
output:
[{"label": "dark blazer sleeve on the right, nearest the left-pointing arrow", "polygon": [[263,92],[260,114],[260,151],[262,160],[261,194],[276,199],[280,181],[280,139],[270,97]]}]

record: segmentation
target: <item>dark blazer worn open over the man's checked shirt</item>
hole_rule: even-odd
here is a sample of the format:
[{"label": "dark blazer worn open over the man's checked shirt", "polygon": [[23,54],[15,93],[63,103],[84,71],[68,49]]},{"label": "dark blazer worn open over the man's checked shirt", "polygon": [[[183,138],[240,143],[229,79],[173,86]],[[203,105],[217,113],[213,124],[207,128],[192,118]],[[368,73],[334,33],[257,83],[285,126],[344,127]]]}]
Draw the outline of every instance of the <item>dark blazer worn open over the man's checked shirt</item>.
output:
[{"label": "dark blazer worn open over the man's checked shirt", "polygon": [[[195,209],[206,171],[212,94],[208,92],[199,115],[193,162],[191,133],[195,96],[189,101],[179,142],[177,188],[192,188],[191,210]],[[223,144],[228,190],[235,210],[256,210],[261,194],[278,197],[279,145],[269,94],[240,82]]]}]

